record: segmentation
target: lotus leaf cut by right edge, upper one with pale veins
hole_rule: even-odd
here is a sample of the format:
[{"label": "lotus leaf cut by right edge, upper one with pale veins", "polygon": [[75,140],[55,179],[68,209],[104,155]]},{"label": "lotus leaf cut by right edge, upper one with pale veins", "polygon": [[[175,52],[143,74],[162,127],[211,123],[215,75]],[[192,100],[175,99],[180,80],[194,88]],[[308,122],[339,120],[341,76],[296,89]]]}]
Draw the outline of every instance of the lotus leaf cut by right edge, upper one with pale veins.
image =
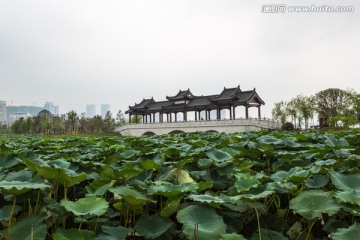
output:
[{"label": "lotus leaf cut by right edge, upper one with pale veins", "polygon": [[360,191],[360,173],[342,174],[337,173],[333,169],[329,171],[331,175],[331,182],[339,190],[352,190]]}]

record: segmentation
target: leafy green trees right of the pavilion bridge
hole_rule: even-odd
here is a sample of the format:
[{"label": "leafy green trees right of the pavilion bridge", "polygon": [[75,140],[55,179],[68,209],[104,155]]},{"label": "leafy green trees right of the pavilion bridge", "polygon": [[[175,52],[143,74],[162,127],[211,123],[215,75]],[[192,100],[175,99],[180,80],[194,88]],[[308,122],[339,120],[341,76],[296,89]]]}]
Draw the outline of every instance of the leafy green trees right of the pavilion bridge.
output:
[{"label": "leafy green trees right of the pavilion bridge", "polygon": [[295,128],[309,128],[315,115],[320,127],[350,127],[360,123],[360,94],[354,91],[329,88],[314,96],[302,96],[288,102],[275,103],[273,118],[284,125],[289,121]]}]

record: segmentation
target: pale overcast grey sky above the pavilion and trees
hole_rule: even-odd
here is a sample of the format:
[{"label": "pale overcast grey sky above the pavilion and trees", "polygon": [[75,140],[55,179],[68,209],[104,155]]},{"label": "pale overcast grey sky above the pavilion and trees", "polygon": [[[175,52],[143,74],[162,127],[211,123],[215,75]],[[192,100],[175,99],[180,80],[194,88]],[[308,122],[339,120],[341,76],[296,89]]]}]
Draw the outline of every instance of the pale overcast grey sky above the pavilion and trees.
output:
[{"label": "pale overcast grey sky above the pavilion and trees", "polygon": [[[264,4],[354,6],[262,13]],[[274,102],[337,87],[360,92],[359,1],[0,0],[0,100],[115,114],[240,85]]]}]

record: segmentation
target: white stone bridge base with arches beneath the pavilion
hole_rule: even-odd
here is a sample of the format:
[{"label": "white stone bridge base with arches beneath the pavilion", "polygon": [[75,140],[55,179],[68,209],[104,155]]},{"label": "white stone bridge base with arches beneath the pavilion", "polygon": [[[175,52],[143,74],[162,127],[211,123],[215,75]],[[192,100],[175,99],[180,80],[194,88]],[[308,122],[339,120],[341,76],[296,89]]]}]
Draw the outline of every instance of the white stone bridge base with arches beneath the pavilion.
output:
[{"label": "white stone bridge base with arches beneath the pavilion", "polygon": [[123,136],[162,135],[180,132],[244,132],[279,128],[280,124],[271,119],[231,119],[212,121],[164,122],[129,124],[116,128]]}]

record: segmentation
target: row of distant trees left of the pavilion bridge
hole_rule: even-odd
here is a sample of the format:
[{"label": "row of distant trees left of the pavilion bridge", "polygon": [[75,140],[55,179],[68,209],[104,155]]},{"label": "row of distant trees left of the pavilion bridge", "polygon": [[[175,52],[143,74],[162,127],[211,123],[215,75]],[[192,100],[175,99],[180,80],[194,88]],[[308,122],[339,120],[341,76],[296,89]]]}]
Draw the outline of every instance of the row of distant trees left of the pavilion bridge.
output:
[{"label": "row of distant trees left of the pavilion bridge", "polygon": [[113,118],[111,112],[105,117],[95,115],[92,118],[85,116],[85,113],[78,115],[70,111],[60,116],[54,116],[47,110],[42,110],[38,115],[27,119],[21,118],[11,125],[14,133],[43,133],[43,134],[64,134],[64,133],[94,133],[112,132],[116,126],[126,123],[121,110]]}]

